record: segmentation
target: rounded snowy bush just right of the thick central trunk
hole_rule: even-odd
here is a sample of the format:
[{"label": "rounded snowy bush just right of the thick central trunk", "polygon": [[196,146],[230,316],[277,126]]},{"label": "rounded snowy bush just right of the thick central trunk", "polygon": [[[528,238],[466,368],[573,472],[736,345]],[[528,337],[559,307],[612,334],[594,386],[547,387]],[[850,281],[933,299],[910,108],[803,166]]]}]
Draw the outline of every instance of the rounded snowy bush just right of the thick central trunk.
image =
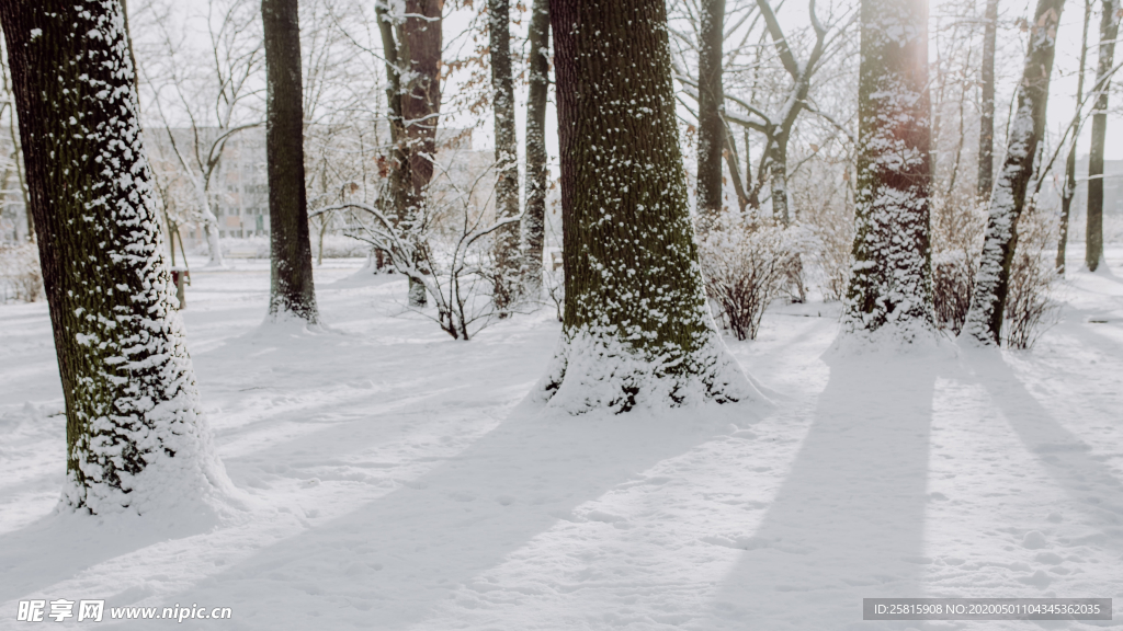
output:
[{"label": "rounded snowy bush just right of the thick central trunk", "polygon": [[797,260],[797,228],[727,218],[699,243],[706,294],[737,339],[756,339],[765,309],[783,293]]}]

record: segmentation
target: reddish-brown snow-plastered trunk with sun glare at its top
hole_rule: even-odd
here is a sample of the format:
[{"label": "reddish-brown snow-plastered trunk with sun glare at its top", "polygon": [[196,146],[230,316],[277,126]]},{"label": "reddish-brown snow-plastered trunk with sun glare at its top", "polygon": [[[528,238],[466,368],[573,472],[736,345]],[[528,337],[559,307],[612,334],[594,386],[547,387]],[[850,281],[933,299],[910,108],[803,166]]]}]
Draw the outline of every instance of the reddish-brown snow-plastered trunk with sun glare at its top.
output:
[{"label": "reddish-brown snow-plastered trunk with sun glare at its top", "polygon": [[862,0],[853,268],[842,335],[932,335],[928,2]]}]

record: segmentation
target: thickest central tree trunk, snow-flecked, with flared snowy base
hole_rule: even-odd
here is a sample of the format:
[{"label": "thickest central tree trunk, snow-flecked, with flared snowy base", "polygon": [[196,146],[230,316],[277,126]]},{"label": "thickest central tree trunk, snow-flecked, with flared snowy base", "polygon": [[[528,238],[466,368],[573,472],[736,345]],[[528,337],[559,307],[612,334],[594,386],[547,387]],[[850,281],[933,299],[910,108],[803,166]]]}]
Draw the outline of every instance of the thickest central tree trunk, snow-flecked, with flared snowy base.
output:
[{"label": "thickest central tree trunk, snow-flecked, with flared snowy base", "polygon": [[663,0],[551,0],[565,321],[539,387],[570,413],[758,396],[706,304]]}]

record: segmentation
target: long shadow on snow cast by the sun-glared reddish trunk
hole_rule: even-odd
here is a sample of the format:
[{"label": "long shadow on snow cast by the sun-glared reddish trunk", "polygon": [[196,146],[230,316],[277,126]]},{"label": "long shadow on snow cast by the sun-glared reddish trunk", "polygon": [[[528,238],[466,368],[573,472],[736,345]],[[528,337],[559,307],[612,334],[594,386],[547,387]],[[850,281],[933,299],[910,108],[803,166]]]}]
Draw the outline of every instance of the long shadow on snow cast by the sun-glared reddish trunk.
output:
[{"label": "long shadow on snow cast by the sun-glared reddish trunk", "polygon": [[[862,597],[919,596],[932,357],[830,360],[791,473],[712,603],[713,629],[841,629]],[[876,625],[877,623],[869,623]]]}]

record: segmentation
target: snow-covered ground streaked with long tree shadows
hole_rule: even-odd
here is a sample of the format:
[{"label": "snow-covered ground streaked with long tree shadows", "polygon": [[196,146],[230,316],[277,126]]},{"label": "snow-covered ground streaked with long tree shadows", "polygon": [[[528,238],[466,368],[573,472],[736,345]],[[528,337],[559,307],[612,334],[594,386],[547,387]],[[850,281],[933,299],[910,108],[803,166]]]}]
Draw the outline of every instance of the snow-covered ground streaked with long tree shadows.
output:
[{"label": "snow-covered ground streaked with long tree shadows", "polygon": [[[359,263],[317,268],[320,332],[261,327],[266,262],[195,266],[189,344],[244,505],[219,525],[52,514],[46,305],[0,307],[0,629],[36,628],[28,598],[104,598],[100,627],[135,629],[173,623],[109,607],[231,607],[184,629],[1123,625],[1123,248],[1071,274],[1030,353],[837,357],[837,307],[812,303],[730,341],[770,406],[581,418],[520,405],[551,310],[454,341]],[[861,621],[892,596],[1116,612]]]}]

